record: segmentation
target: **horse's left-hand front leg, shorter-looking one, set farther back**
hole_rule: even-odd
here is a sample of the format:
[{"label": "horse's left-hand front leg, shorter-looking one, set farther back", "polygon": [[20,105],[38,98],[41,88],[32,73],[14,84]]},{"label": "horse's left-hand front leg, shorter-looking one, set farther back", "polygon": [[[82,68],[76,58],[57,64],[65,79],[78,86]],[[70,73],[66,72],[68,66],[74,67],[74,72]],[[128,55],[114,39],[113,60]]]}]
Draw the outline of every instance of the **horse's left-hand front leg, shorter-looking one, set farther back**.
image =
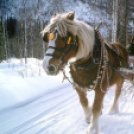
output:
[{"label": "horse's left-hand front leg, shorter-looking one, set farther back", "polygon": [[86,121],[90,122],[90,116],[91,116],[91,108],[89,106],[88,98],[87,98],[87,91],[81,91],[76,88],[76,91],[79,95],[80,103],[83,107],[84,115]]}]

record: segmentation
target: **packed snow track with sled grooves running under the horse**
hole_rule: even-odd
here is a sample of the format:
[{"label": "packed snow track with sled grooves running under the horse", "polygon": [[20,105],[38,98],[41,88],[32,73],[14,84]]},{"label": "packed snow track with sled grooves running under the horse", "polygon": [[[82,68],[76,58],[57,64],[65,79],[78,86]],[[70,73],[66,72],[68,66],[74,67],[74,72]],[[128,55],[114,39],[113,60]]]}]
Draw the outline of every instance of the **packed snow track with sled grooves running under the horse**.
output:
[{"label": "packed snow track with sled grooves running under the horse", "polygon": [[[112,97],[113,90],[110,90],[105,97],[100,118],[102,134],[133,134],[133,101],[128,101],[122,95],[120,113],[106,115]],[[93,92],[88,93],[88,98],[92,104]],[[71,85],[64,85],[30,103],[5,110],[1,112],[0,118],[0,134],[83,134],[88,127],[78,96]]]}]

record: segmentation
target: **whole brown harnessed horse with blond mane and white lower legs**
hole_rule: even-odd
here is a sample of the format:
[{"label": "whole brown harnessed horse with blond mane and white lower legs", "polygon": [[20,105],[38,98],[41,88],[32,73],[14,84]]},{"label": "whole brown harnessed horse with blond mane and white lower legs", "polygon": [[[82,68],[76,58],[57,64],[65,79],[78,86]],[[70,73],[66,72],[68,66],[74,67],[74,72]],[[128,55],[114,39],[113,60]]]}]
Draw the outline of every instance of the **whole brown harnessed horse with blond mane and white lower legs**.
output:
[{"label": "whole brown harnessed horse with blond mane and white lower legs", "polygon": [[[100,134],[99,117],[103,99],[109,87],[116,85],[109,114],[119,112],[119,97],[124,77],[120,67],[126,68],[128,51],[120,43],[109,44],[98,29],[75,19],[75,12],[54,14],[42,31],[48,43],[43,68],[48,75],[57,75],[69,63],[72,84],[89,124],[86,134]],[[95,92],[92,107],[87,92]]]}]

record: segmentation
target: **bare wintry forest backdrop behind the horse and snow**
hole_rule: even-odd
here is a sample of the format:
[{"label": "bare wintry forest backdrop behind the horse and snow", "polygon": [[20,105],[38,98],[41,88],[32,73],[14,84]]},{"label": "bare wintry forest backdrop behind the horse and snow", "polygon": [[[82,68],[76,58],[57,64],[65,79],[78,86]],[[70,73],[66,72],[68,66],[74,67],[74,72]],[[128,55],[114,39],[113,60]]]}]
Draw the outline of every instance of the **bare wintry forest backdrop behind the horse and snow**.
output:
[{"label": "bare wintry forest backdrop behind the horse and snow", "polygon": [[41,31],[54,13],[75,11],[76,19],[95,27],[110,42],[127,45],[134,34],[132,0],[1,0],[0,62],[12,57],[42,59],[47,44]]}]

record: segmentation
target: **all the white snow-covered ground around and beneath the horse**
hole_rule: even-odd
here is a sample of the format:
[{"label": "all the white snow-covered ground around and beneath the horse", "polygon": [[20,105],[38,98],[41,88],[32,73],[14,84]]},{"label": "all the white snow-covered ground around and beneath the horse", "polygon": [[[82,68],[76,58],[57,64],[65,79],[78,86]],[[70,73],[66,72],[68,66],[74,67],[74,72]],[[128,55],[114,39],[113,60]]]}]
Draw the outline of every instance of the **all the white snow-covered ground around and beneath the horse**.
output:
[{"label": "all the white snow-covered ground around and beneath the horse", "polygon": [[[0,64],[0,134],[83,134],[88,123],[72,85],[62,83],[62,74],[47,76],[41,61],[28,60],[27,66],[16,59]],[[134,134],[133,88],[124,84],[116,115],[105,114],[114,87],[108,91],[100,117],[102,134]],[[89,92],[90,104],[93,97]]]}]

